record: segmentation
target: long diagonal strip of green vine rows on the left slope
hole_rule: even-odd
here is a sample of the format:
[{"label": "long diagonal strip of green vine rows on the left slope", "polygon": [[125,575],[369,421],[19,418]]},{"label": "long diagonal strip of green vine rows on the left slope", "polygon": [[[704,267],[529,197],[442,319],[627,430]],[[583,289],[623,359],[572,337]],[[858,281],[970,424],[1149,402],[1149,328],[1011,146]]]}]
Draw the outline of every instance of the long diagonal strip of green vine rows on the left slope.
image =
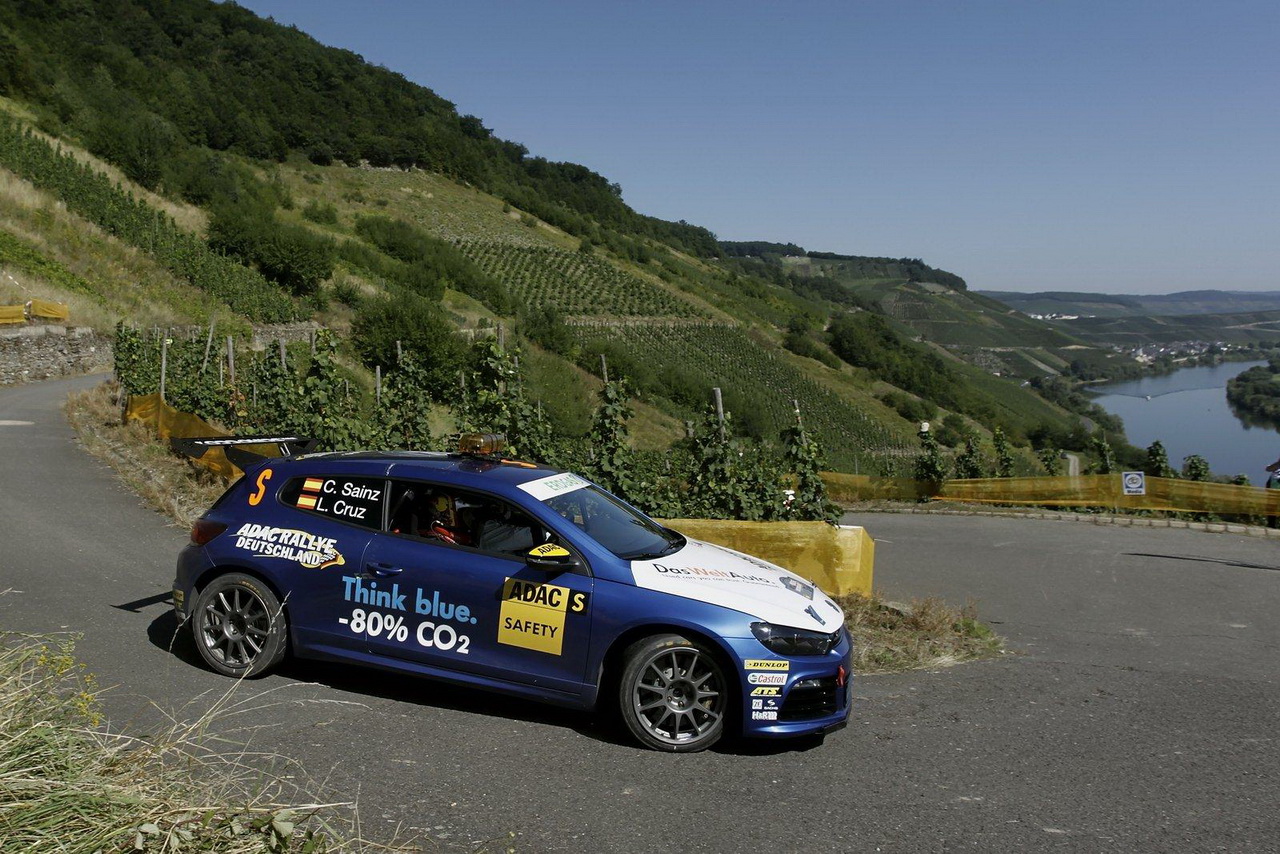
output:
[{"label": "long diagonal strip of green vine rows on the left slope", "polygon": [[134,198],[105,174],[0,117],[0,166],[54,192],[67,209],[150,254],[170,273],[259,323],[293,320],[293,301],[262,275],[218,255],[196,234]]}]

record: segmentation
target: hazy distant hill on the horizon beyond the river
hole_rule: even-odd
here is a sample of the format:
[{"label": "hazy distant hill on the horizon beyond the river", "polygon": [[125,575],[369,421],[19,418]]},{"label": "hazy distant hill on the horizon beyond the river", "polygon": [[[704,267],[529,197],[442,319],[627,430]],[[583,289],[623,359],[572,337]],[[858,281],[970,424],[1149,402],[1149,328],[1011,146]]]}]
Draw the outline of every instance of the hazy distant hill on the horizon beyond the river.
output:
[{"label": "hazy distant hill on the horizon beyond the river", "polygon": [[1024,314],[1134,318],[1139,315],[1242,314],[1280,311],[1280,291],[1181,291],[1179,293],[1075,293],[980,291]]}]

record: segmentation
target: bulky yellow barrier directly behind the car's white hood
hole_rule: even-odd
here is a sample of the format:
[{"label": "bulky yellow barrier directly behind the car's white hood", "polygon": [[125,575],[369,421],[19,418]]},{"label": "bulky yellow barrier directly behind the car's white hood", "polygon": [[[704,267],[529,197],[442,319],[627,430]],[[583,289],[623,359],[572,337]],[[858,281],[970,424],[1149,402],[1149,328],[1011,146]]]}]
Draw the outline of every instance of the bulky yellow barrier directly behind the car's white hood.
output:
[{"label": "bulky yellow barrier directly behind the car's white hood", "polygon": [[876,543],[861,528],[827,522],[672,519],[663,525],[791,570],[831,595],[870,595]]}]

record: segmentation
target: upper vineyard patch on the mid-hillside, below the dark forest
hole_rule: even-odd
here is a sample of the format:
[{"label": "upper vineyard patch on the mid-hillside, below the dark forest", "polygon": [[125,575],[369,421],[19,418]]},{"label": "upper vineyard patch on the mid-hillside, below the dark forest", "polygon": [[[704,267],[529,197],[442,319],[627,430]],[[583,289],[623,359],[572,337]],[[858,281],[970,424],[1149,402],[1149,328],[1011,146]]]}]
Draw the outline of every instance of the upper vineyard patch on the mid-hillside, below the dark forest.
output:
[{"label": "upper vineyard patch on the mid-hillside, below the dark forest", "polygon": [[462,241],[458,248],[526,305],[553,306],[567,316],[707,316],[594,255],[489,241]]}]

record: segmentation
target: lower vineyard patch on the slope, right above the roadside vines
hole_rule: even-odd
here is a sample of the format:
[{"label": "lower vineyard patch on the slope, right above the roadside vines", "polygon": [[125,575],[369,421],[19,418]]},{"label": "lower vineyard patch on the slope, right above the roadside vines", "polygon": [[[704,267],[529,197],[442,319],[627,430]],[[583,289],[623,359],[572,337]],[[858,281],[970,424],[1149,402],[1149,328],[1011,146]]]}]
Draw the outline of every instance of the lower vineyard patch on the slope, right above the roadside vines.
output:
[{"label": "lower vineyard patch on the slope, right above the roadside vines", "polygon": [[712,387],[736,392],[763,414],[777,435],[795,423],[799,401],[805,425],[823,446],[827,465],[840,471],[897,474],[916,448],[856,406],[792,367],[741,328],[722,323],[579,324],[585,344],[613,341],[655,369],[694,371]]}]

